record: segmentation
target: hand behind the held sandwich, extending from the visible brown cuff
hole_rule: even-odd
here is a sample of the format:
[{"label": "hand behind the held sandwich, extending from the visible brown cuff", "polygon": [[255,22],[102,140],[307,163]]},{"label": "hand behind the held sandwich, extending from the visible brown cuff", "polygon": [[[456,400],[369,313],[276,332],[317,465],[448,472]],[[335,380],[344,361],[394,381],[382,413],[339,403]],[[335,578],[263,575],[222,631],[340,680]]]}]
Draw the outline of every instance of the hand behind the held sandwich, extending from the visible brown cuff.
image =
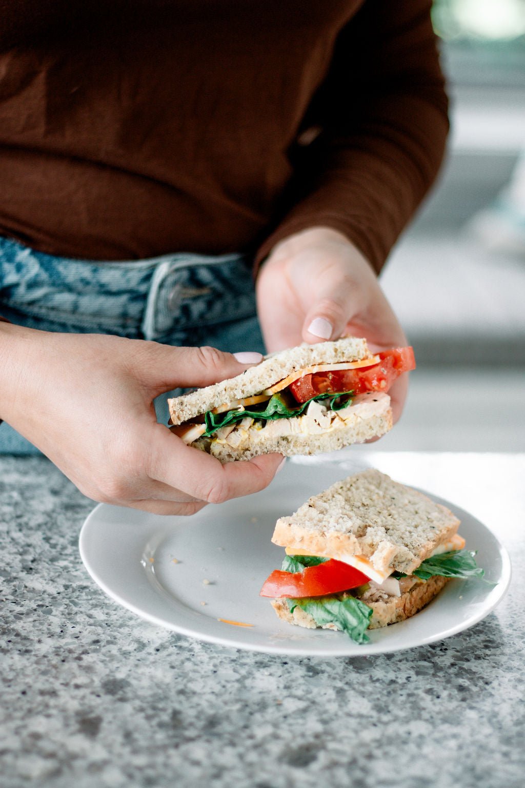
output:
[{"label": "hand behind the held sandwich, extending from the visible brown cuff", "polygon": [[[299,232],[275,247],[257,279],[257,310],[270,352],[346,334],[366,337],[374,352],[407,344],[372,267],[329,228]],[[401,375],[390,388],[394,422],[408,385]]]}]

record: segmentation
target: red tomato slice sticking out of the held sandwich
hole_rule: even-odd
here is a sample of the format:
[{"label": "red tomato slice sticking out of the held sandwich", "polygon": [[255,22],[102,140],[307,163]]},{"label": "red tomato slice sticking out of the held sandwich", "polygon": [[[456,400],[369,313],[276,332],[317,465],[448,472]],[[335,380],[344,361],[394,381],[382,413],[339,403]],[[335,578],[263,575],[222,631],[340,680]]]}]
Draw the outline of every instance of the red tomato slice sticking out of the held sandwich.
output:
[{"label": "red tomato slice sticking out of the held sandwich", "polygon": [[304,375],[290,384],[290,391],[298,402],[307,402],[317,394],[387,392],[397,377],[416,369],[412,348],[394,348],[377,355],[381,359],[379,364],[359,370],[334,370]]}]

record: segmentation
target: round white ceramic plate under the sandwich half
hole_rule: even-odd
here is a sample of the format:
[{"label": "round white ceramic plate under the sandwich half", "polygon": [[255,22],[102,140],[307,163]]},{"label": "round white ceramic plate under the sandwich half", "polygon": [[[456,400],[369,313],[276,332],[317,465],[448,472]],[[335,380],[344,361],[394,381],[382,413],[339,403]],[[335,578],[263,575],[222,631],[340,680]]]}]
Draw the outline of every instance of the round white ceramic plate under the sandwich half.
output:
[{"label": "round white ceramic plate under the sandwich half", "polygon": [[468,548],[478,551],[479,566],[497,585],[453,580],[411,619],[372,630],[366,645],[340,632],[307,630],[277,618],[269,601],[259,596],[264,580],[283,559],[283,549],[270,541],[275,520],[362,467],[346,460],[294,458],[263,492],[205,507],[191,518],[101,504],[83,524],[80,555],[105,593],[143,619],[202,641],[252,651],[312,656],[393,652],[450,637],[494,610],[510,582],[508,553],[479,520],[432,496],[460,518]]}]

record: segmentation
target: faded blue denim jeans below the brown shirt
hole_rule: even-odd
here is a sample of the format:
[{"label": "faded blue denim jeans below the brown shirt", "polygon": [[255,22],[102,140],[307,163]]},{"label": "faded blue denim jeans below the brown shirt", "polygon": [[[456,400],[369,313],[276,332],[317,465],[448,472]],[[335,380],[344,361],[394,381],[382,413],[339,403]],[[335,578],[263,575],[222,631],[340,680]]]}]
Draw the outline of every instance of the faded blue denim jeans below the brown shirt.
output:
[{"label": "faded blue denim jeans below the brown shirt", "polygon": [[[242,255],[95,262],[0,237],[0,314],[31,329],[264,352],[251,265]],[[165,400],[156,402],[161,422],[168,419]],[[39,451],[2,424],[0,454],[6,453]]]}]

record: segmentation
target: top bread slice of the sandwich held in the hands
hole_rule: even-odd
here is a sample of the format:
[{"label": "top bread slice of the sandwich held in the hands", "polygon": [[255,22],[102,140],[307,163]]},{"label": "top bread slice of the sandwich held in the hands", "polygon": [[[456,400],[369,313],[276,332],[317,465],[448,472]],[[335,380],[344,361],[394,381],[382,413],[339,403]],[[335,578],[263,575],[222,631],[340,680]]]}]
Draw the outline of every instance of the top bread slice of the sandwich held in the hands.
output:
[{"label": "top bread slice of the sandwich held in the hands", "polygon": [[301,344],[297,348],[265,356],[260,364],[251,366],[237,377],[168,399],[169,413],[173,424],[182,424],[206,411],[212,411],[214,407],[260,394],[264,388],[312,364],[360,361],[370,355],[366,340],[355,336],[346,336],[336,342]]}]

